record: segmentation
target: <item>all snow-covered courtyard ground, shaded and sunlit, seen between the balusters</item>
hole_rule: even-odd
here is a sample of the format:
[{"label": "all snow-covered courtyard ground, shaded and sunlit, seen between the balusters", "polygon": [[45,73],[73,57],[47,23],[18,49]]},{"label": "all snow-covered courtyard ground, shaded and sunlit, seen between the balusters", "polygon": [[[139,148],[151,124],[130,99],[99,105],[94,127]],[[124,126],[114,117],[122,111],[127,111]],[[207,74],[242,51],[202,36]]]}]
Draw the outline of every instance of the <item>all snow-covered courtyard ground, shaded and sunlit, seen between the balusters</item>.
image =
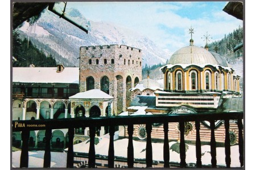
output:
[{"label": "all snow-covered courtyard ground, shaded and sunlit, seen between the balusters", "polygon": [[[98,137],[100,142],[95,145],[97,155],[108,156],[109,150],[109,134]],[[176,142],[170,142],[169,147]],[[89,152],[90,142],[85,141],[73,146],[74,152]],[[114,135],[114,154],[119,158],[127,158],[128,139],[118,139],[118,131]],[[134,159],[146,158],[146,142],[133,141]],[[68,148],[65,149],[66,151]],[[217,147],[217,165],[225,166],[225,148]],[[203,165],[211,164],[210,146],[201,146],[202,163]],[[163,143],[152,143],[152,155],[155,162],[163,162]],[[28,167],[39,168],[43,167],[44,151],[29,152]],[[66,167],[67,153],[65,152],[51,152],[51,167],[64,168]],[[13,167],[19,167],[20,151],[13,152]],[[180,155],[177,152],[170,150],[170,162],[180,163]],[[188,145],[186,152],[186,163],[196,164],[196,146]],[[238,145],[231,146],[231,167],[240,167],[239,148]]]}]

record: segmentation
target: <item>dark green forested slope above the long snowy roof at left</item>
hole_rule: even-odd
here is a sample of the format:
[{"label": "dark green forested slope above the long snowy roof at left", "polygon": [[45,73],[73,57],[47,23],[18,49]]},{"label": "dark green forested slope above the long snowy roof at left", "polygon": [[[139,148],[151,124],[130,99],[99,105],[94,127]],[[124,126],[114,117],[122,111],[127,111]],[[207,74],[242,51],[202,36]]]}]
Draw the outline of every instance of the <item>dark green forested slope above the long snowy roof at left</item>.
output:
[{"label": "dark green forested slope above the long snowy roof at left", "polygon": [[37,67],[55,67],[56,61],[52,54],[46,54],[36,48],[31,41],[21,40],[19,33],[13,33],[13,66],[29,67],[34,64]]}]

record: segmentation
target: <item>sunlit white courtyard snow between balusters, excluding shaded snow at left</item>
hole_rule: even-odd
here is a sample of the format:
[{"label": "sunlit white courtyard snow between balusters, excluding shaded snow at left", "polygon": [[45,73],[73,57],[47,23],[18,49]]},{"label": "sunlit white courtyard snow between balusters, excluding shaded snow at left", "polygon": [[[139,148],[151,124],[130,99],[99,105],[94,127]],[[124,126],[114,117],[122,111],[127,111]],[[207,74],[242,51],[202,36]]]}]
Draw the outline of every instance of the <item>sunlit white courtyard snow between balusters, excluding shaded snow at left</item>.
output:
[{"label": "sunlit white courtyard snow between balusters, excluding shaded snow at left", "polygon": [[[100,143],[95,145],[96,154],[101,156],[108,156],[109,150],[109,137],[105,135],[101,138]],[[171,147],[176,142],[169,142],[169,147]],[[89,142],[82,142],[77,145],[74,145],[73,149],[74,152],[89,152]],[[119,139],[114,141],[114,153],[115,156],[121,158],[127,158],[127,146],[128,146],[128,139]],[[145,159],[146,158],[146,142],[141,141],[133,141],[134,147],[134,159]],[[238,145],[231,146],[231,167],[240,167],[239,161],[239,150]],[[67,150],[67,149],[66,149]],[[211,164],[211,156],[210,156],[210,146],[204,145],[201,146],[202,152],[202,163],[204,165]],[[217,147],[217,165],[226,165],[225,164],[225,148],[224,147]],[[162,161],[163,162],[163,143],[152,143],[152,156],[153,160],[156,162]],[[179,163],[180,162],[180,154],[177,152],[170,150],[170,161]],[[188,145],[188,150],[186,152],[186,163],[196,163],[196,146],[195,145]]]}]

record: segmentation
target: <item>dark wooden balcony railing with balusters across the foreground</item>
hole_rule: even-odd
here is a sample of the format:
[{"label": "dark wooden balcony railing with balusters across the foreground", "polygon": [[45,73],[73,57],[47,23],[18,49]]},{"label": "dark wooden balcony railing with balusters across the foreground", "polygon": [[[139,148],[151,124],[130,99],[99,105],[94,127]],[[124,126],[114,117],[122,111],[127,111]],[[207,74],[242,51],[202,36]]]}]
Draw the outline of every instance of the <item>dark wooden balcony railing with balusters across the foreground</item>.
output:
[{"label": "dark wooden balcony railing with balusters across the foreground", "polygon": [[[139,115],[139,116],[116,116],[116,117],[79,117],[64,118],[56,120],[25,120],[13,121],[13,131],[22,131],[22,153],[20,156],[20,167],[28,167],[28,138],[31,130],[46,130],[46,148],[44,153],[44,167],[50,167],[51,163],[51,131],[52,129],[68,129],[69,141],[73,141],[75,128],[89,127],[90,146],[88,154],[88,167],[94,168],[96,165],[96,155],[94,148],[94,138],[96,126],[109,126],[109,153],[108,167],[114,168],[114,126],[127,125],[129,142],[127,146],[127,165],[134,167],[134,149],[133,149],[133,125],[146,124],[147,143],[146,143],[146,166],[152,167],[152,143],[151,130],[153,123],[164,124],[164,167],[170,167],[170,150],[168,143],[168,122],[179,122],[180,124],[180,167],[187,167],[184,141],[184,122],[195,121],[196,124],[196,167],[202,167],[201,162],[201,142],[200,142],[200,121],[209,121],[211,129],[210,154],[212,167],[217,167],[216,160],[216,140],[214,135],[214,121],[225,121],[225,161],[226,167],[230,167],[230,138],[229,138],[229,120],[238,121],[238,141],[239,158],[241,167],[243,167],[243,112],[228,113],[197,113],[197,114],[161,114],[161,115]],[[73,168],[74,153],[73,143],[68,143],[67,168]]]}]

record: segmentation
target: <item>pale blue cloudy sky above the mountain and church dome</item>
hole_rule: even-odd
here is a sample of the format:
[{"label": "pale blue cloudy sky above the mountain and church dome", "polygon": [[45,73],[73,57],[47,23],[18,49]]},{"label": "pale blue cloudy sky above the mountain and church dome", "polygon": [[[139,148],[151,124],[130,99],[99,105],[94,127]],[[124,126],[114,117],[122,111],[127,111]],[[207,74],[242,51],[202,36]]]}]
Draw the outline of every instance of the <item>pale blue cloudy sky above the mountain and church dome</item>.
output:
[{"label": "pale blue cloudy sky above the mountain and church dome", "polygon": [[189,45],[204,46],[233,32],[242,20],[222,11],[227,2],[68,2],[88,20],[110,22],[147,36],[166,52]]}]

